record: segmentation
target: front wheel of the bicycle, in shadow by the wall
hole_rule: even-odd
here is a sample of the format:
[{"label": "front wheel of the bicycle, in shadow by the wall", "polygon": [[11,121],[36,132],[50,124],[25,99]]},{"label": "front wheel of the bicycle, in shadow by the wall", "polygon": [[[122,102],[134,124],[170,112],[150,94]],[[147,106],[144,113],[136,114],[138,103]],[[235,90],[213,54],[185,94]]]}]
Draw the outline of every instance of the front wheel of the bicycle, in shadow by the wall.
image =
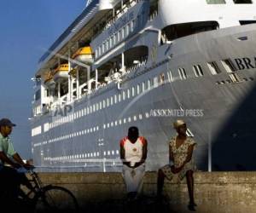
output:
[{"label": "front wheel of the bicycle, in shadow by the wall", "polygon": [[73,193],[64,187],[46,186],[38,195],[35,212],[78,212],[79,204]]}]

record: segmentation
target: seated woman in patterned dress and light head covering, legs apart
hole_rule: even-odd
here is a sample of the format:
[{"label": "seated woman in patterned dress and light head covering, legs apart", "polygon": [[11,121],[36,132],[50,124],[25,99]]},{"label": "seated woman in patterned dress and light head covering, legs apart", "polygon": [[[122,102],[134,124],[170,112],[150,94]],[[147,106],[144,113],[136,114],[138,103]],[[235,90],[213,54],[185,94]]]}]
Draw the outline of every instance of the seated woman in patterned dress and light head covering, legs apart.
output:
[{"label": "seated woman in patterned dress and light head covering, legs apart", "polygon": [[177,174],[181,181],[186,176],[189,191],[189,210],[195,210],[194,200],[194,178],[193,172],[196,170],[193,159],[193,150],[195,141],[186,135],[187,125],[183,120],[177,120],[173,123],[177,135],[172,137],[169,142],[169,161],[170,163],[160,168],[157,179],[157,195],[161,197],[165,178],[172,180]]}]

